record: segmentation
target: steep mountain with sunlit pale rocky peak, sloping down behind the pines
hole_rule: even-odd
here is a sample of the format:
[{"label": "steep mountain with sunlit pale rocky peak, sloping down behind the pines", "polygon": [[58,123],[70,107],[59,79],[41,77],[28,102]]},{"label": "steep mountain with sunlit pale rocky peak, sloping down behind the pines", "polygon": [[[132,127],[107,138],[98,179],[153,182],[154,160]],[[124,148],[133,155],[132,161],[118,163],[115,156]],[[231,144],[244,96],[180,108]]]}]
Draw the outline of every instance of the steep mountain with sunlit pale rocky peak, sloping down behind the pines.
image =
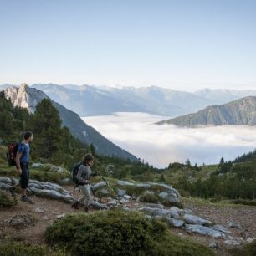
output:
[{"label": "steep mountain with sunlit pale rocky peak, sloping down behind the pines", "polygon": [[[43,91],[28,87],[27,84],[22,84],[20,87],[8,87],[4,90],[6,98],[12,100],[13,105],[18,105],[28,109],[29,112],[35,110],[36,105],[44,98],[49,98]],[[49,100],[51,100],[49,98]],[[136,156],[129,152],[115,146],[114,143],[101,136],[93,127],[86,125],[78,114],[66,109],[63,105],[51,100],[53,105],[59,110],[62,125],[67,126],[70,132],[83,141],[87,145],[93,144],[95,150],[105,156],[119,156],[122,158],[129,158],[132,161],[136,160]]]}]

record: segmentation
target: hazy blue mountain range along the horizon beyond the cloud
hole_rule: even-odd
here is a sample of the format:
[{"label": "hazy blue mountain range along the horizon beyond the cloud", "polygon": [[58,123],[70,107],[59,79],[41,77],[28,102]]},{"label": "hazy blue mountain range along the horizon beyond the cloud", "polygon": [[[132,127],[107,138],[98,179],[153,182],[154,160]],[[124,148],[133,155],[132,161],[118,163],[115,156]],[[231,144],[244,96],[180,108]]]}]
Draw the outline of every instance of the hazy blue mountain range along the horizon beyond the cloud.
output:
[{"label": "hazy blue mountain range along the horizon beyond the cloud", "polygon": [[[6,88],[12,86],[3,84]],[[175,117],[186,115],[208,105],[219,105],[256,95],[256,90],[197,90],[186,92],[151,86],[144,88],[32,84],[52,100],[64,105],[79,116],[110,115],[114,112],[144,112]]]}]

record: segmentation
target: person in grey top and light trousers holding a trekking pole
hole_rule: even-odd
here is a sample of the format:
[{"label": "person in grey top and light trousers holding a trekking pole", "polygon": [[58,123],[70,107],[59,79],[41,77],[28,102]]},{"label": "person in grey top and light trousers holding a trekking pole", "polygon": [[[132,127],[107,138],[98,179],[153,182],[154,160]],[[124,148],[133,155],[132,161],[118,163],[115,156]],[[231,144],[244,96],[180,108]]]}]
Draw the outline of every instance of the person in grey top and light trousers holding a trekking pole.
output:
[{"label": "person in grey top and light trousers holding a trekking pole", "polygon": [[100,175],[100,172],[91,172],[90,166],[94,164],[94,157],[88,153],[84,155],[82,159],[82,164],[79,166],[79,171],[77,172],[77,180],[83,184],[79,185],[80,190],[84,193],[83,197],[80,197],[78,201],[74,201],[71,207],[78,208],[79,203],[84,203],[84,212],[88,212],[91,200],[90,194],[90,177]]}]

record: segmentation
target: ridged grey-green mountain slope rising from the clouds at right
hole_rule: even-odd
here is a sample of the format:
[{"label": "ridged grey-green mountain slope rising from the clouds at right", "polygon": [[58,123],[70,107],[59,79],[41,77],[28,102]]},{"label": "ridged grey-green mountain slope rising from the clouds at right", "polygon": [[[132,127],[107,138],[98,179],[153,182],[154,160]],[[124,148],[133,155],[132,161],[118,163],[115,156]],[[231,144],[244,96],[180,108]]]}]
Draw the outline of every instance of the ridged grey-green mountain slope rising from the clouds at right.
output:
[{"label": "ridged grey-green mountain slope rising from the clouds at right", "polygon": [[256,96],[224,105],[211,105],[197,113],[157,122],[157,125],[194,127],[197,125],[256,125]]}]

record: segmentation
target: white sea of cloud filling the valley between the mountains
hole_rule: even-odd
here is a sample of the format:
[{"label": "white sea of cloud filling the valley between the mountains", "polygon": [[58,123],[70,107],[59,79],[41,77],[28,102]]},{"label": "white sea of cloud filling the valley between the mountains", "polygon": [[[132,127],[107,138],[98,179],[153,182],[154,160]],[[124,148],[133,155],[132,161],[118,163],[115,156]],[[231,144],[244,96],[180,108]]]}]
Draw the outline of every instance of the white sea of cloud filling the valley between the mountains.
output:
[{"label": "white sea of cloud filling the valley between the mountains", "polygon": [[85,117],[83,120],[116,145],[153,166],[170,162],[192,164],[233,160],[256,145],[256,127],[224,125],[216,127],[180,128],[154,125],[166,116],[145,113],[115,113]]}]

